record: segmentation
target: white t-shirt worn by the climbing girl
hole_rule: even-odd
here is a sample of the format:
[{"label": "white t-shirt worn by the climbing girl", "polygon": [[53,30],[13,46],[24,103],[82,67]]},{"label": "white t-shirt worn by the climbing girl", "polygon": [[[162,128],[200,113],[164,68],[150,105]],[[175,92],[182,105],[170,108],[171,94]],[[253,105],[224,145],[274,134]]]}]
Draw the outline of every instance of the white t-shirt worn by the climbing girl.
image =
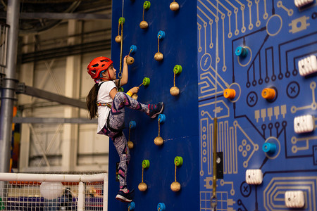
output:
[{"label": "white t-shirt worn by the climbing girl", "polygon": [[[102,83],[100,85],[100,83]],[[116,88],[116,84],[114,81],[106,81],[106,82],[100,82],[99,83],[99,91],[97,96],[97,103],[112,103],[112,98],[110,96],[110,91],[113,88]],[[104,125],[106,124],[108,115],[110,112],[110,108],[108,106],[98,106],[98,134],[103,134],[101,132],[101,129],[104,128]]]}]

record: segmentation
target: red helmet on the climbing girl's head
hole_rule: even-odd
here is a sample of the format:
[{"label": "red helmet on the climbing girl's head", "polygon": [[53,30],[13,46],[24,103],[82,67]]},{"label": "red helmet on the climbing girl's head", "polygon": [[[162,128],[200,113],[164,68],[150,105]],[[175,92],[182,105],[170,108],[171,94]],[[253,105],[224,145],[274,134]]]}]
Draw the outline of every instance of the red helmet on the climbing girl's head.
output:
[{"label": "red helmet on the climbing girl's head", "polygon": [[92,79],[99,79],[101,78],[100,73],[107,70],[112,63],[113,61],[110,58],[99,56],[89,63],[87,66],[87,72]]}]

